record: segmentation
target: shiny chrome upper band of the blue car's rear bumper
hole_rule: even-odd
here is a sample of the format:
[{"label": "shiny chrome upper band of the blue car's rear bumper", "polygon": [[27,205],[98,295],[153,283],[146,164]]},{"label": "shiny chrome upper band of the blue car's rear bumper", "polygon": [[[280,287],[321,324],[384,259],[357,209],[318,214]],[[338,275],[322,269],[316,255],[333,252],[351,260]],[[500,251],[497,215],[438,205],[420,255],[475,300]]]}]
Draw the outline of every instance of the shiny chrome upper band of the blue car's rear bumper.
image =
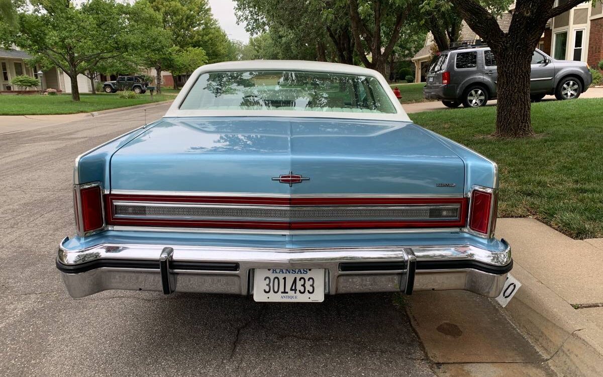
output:
[{"label": "shiny chrome upper band of the blue car's rear bumper", "polygon": [[[59,244],[58,261],[80,265],[96,259],[159,261],[163,244],[98,244],[84,249],[68,249],[66,238]],[[491,251],[460,245],[438,246],[359,246],[359,247],[232,247],[171,245],[174,262],[238,262],[241,270],[278,263],[320,264],[321,262],[368,262],[406,260],[411,253],[420,261],[476,261],[506,266],[511,262],[511,248]],[[89,258],[85,258],[89,256]],[[84,260],[85,262],[80,262]],[[274,267],[274,266],[273,266]]]}]

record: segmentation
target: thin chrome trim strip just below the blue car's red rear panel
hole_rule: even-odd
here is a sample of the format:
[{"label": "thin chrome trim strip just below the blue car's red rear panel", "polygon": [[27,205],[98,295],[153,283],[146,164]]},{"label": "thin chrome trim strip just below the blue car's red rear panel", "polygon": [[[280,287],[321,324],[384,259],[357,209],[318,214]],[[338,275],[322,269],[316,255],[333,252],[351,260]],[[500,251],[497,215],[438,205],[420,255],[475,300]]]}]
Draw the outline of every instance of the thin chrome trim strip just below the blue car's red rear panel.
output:
[{"label": "thin chrome trim strip just below the blue car's red rear panel", "polygon": [[108,226],[107,230],[136,232],[177,232],[177,233],[225,233],[225,234],[259,234],[259,235],[321,235],[321,234],[390,234],[390,233],[458,233],[461,228],[429,228],[429,229],[223,229],[223,228],[186,228],[155,226]]}]

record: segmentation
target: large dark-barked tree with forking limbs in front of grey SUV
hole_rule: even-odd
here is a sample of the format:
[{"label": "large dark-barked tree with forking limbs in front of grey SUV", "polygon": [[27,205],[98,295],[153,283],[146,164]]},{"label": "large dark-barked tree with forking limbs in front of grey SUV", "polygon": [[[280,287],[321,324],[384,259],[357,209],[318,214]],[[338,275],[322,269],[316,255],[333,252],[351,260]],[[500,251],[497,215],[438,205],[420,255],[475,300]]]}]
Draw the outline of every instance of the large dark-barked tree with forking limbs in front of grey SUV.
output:
[{"label": "large dark-barked tree with forking limbs in front of grey SUV", "polygon": [[[593,0],[593,4],[596,1],[600,0]],[[584,0],[567,0],[557,7],[554,6],[555,0],[517,0],[508,33],[500,29],[496,14],[488,8],[487,2],[450,2],[456,5],[469,27],[488,43],[496,57],[498,103],[494,136],[533,136],[530,115],[532,54],[549,19]]]}]

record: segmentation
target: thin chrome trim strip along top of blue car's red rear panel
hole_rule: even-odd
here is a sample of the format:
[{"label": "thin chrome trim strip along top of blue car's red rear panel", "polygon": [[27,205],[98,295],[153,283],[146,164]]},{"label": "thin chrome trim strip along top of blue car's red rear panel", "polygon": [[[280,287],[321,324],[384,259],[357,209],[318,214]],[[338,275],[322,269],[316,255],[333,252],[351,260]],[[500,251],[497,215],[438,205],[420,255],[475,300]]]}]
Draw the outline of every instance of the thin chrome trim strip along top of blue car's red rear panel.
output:
[{"label": "thin chrome trim strip along top of blue car's red rear panel", "polygon": [[276,194],[272,192],[204,192],[111,190],[115,195],[159,195],[182,197],[266,197],[266,198],[464,198],[465,194]]}]

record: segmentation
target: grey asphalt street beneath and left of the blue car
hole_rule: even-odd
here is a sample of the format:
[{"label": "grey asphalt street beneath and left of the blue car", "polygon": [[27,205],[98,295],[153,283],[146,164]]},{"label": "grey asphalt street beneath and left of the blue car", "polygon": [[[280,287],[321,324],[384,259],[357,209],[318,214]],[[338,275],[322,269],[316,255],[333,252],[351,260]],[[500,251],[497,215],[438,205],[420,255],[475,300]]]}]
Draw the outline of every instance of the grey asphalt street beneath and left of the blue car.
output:
[{"label": "grey asphalt street beneath and left of the blue car", "polygon": [[143,122],[134,109],[0,135],[0,375],[433,375],[391,294],[303,305],[128,291],[69,297],[54,261],[74,233],[75,157]]}]

